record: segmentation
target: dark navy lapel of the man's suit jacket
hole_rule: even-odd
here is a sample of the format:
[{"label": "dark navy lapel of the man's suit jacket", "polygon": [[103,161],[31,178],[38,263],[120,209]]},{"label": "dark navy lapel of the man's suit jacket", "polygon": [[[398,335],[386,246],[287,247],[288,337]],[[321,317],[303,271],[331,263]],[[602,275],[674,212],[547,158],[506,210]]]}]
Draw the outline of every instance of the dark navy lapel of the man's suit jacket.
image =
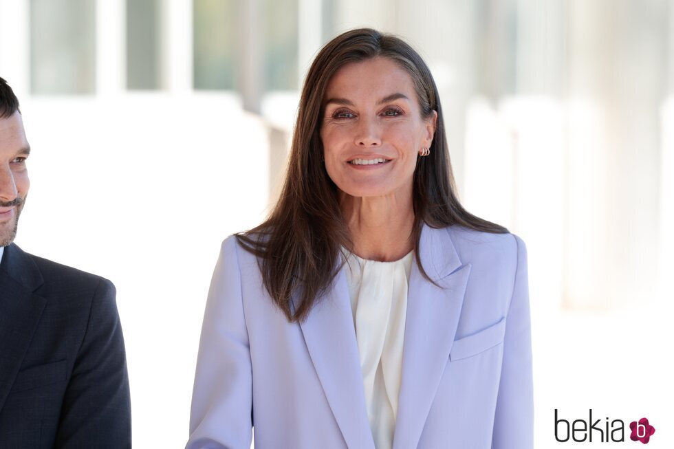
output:
[{"label": "dark navy lapel of the man's suit jacket", "polygon": [[8,245],[0,264],[0,412],[47,303],[33,294],[42,283],[28,256]]}]

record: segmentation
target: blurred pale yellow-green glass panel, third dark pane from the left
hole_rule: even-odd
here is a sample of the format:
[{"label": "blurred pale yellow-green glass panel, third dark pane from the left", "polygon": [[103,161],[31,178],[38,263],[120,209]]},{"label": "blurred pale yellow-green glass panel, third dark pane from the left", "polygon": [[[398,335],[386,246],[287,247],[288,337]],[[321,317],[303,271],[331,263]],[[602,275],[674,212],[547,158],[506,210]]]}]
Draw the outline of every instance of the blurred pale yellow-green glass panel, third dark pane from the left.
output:
[{"label": "blurred pale yellow-green glass panel, third dark pane from the left", "polygon": [[195,0],[194,87],[234,89],[239,7],[236,0]]}]

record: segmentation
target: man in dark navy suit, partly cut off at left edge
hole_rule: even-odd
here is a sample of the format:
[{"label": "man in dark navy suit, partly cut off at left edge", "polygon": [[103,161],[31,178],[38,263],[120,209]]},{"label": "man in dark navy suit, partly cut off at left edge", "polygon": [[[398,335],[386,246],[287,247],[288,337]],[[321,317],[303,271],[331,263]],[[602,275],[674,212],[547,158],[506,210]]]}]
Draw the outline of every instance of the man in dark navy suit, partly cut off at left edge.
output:
[{"label": "man in dark navy suit, partly cut off at left edge", "polygon": [[0,78],[0,448],[129,448],[115,287],[12,243],[29,152],[19,101]]}]

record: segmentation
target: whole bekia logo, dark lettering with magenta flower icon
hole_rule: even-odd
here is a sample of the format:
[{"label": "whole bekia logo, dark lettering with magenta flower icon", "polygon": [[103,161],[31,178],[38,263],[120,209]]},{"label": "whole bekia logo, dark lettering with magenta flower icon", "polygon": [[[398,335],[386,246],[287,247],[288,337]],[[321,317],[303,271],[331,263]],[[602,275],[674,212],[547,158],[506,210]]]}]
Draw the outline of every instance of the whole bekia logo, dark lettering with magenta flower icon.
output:
[{"label": "whole bekia logo, dark lettering with magenta flower icon", "polygon": [[[589,409],[589,420],[574,419],[569,422],[567,419],[559,417],[558,410],[554,409],[554,437],[559,443],[566,443],[569,440],[576,443],[607,443],[609,441],[620,443],[625,441],[624,421],[622,419],[609,420],[606,417],[605,422],[600,424],[601,418],[593,420],[592,409]],[[651,426],[649,420],[645,417],[639,421],[631,421],[629,424],[631,433],[629,439],[632,441],[641,441],[646,444],[650,441],[651,435],[655,433],[655,427]]]}]

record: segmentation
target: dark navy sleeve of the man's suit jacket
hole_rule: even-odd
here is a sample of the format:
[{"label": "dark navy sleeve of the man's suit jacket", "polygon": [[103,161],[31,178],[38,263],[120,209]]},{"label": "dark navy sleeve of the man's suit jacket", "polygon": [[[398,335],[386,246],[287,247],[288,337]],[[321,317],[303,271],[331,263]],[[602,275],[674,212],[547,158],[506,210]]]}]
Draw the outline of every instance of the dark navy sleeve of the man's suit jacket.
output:
[{"label": "dark navy sleeve of the man's suit jacket", "polygon": [[131,401],[114,285],[101,279],[76,355],[56,448],[131,448]]}]

